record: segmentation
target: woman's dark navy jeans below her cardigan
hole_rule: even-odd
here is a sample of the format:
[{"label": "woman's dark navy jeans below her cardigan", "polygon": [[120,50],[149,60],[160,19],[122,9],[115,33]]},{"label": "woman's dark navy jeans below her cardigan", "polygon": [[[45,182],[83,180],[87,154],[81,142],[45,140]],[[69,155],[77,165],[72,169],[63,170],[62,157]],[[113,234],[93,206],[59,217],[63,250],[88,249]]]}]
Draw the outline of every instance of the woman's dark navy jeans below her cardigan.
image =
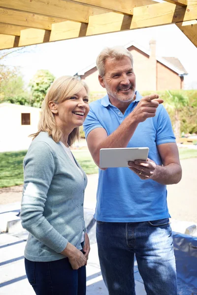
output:
[{"label": "woman's dark navy jeans below her cardigan", "polygon": [[72,269],[68,258],[50,262],[25,258],[25,269],[36,295],[86,294],[86,266]]}]

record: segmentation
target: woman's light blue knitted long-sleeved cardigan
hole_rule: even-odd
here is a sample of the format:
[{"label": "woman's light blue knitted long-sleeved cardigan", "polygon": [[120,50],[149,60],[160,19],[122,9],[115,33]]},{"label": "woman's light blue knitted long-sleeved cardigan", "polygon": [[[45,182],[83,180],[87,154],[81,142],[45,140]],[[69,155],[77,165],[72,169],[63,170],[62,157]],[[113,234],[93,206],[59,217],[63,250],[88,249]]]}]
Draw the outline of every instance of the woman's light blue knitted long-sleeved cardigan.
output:
[{"label": "woman's light blue knitted long-sleeved cardigan", "polygon": [[[76,160],[75,160],[76,161]],[[47,132],[40,132],[24,158],[22,226],[30,233],[25,257],[31,261],[54,261],[69,241],[81,249],[85,232],[83,214],[87,176],[82,174]]]}]

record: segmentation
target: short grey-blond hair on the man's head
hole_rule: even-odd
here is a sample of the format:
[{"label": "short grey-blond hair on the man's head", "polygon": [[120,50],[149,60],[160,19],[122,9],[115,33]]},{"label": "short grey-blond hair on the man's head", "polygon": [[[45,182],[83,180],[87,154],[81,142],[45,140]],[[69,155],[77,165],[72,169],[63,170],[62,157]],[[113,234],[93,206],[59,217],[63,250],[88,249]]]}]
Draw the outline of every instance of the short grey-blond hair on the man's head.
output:
[{"label": "short grey-blond hair on the man's head", "polygon": [[130,58],[131,65],[133,66],[133,57],[131,52],[127,50],[124,46],[114,46],[114,47],[106,47],[104,48],[98,58],[97,58],[97,68],[99,71],[99,75],[104,77],[105,75],[105,61],[106,59],[116,59],[121,60],[125,57]]}]

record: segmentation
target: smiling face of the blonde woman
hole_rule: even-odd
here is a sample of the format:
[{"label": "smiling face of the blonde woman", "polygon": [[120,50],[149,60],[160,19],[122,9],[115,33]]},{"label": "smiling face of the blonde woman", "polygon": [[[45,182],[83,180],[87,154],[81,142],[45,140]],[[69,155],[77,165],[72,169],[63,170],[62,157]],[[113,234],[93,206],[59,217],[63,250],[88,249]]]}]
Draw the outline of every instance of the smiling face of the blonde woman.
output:
[{"label": "smiling face of the blonde woman", "polygon": [[81,126],[90,110],[85,87],[65,101],[57,103],[56,109],[56,123],[62,130]]}]

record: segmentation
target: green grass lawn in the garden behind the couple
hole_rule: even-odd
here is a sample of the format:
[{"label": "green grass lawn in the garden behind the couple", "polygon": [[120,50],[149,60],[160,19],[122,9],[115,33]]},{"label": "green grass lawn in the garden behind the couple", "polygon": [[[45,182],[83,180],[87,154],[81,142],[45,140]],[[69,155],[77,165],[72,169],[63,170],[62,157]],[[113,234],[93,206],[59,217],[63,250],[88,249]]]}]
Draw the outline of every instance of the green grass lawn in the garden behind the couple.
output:
[{"label": "green grass lawn in the garden behind the couple", "polygon": [[[86,174],[98,173],[88,150],[73,150],[75,158]],[[23,184],[23,158],[27,151],[0,153],[0,188]],[[197,157],[197,149],[179,148],[180,159]]]}]

